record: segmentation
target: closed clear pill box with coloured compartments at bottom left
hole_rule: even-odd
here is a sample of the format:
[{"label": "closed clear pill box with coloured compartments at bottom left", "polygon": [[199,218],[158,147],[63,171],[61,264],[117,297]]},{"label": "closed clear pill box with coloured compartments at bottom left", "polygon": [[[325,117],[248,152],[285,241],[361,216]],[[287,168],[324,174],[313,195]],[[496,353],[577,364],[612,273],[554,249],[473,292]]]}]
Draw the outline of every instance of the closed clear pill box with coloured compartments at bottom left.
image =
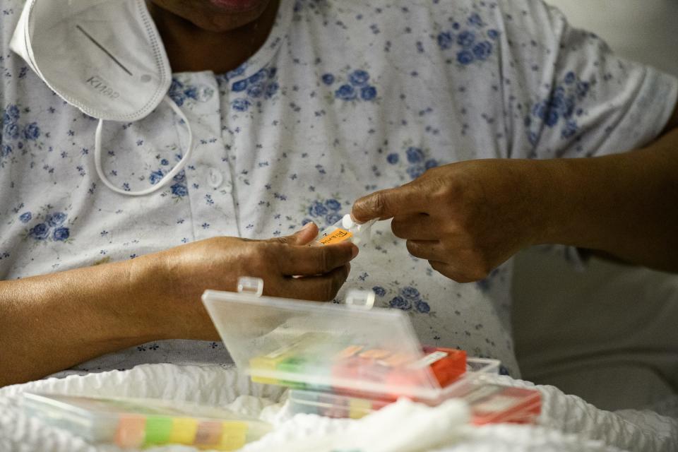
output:
[{"label": "closed clear pill box with coloured compartments at bottom left", "polygon": [[234,451],[272,429],[267,422],[229,410],[148,398],[25,393],[23,410],[87,441],[122,448],[185,444]]}]

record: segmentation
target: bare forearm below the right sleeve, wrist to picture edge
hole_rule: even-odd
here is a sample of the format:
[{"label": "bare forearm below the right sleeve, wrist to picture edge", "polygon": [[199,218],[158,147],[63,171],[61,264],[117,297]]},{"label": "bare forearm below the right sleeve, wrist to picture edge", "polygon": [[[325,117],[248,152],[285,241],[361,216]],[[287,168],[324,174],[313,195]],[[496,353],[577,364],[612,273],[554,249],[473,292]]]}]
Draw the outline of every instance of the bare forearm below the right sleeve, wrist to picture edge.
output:
[{"label": "bare forearm below the right sleeve, wrist to picture edge", "polygon": [[543,160],[532,171],[538,242],[678,271],[678,130],[634,152]]}]

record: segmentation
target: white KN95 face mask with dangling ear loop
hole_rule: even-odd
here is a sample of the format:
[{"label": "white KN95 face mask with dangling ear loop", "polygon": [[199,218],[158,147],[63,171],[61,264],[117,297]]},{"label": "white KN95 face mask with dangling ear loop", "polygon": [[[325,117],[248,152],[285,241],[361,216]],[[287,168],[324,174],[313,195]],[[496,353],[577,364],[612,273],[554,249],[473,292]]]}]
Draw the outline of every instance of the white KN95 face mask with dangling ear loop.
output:
[{"label": "white KN95 face mask with dangling ear loop", "polygon": [[[193,133],[184,113],[167,96],[172,71],[145,0],[27,0],[10,48],[57,95],[99,119],[95,166],[109,189],[131,196],[153,193],[188,162]],[[103,171],[104,121],[139,121],[163,100],[188,127],[188,148],[160,182],[143,191],[124,191]]]}]

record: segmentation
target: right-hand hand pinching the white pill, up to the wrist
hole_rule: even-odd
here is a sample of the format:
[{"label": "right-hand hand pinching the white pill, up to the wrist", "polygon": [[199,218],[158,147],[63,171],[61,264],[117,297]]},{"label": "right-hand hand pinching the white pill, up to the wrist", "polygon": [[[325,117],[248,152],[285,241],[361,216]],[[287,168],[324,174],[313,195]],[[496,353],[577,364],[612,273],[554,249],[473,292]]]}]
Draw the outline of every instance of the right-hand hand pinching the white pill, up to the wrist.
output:
[{"label": "right-hand hand pinching the white pill, up to the wrist", "polygon": [[[460,283],[480,280],[548,225],[533,199],[539,174],[528,160],[471,160],[429,169],[395,189],[355,201],[359,222],[393,218],[412,256]],[[527,175],[530,174],[530,177]]]}]

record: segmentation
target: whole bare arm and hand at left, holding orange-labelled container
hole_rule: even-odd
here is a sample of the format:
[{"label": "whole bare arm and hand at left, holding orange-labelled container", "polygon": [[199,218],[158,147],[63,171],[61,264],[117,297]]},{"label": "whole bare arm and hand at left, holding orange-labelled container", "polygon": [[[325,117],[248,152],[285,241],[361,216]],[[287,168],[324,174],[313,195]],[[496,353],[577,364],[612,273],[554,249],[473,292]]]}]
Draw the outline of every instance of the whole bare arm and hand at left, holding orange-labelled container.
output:
[{"label": "whole bare arm and hand at left, holding orange-labelled container", "polygon": [[[276,297],[332,299],[355,245],[289,237],[215,237],[127,261],[0,281],[0,386],[41,378],[105,353],[160,339],[219,340],[201,295],[263,278]],[[295,275],[296,278],[293,278]]]}]

